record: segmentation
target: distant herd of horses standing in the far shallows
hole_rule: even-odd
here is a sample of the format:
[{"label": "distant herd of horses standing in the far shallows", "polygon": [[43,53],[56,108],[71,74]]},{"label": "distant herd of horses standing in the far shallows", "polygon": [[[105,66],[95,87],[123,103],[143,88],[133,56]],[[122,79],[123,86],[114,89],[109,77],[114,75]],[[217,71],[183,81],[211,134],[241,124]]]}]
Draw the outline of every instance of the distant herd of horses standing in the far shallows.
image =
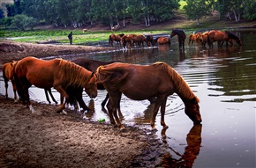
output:
[{"label": "distant herd of horses standing in the far shallows", "polygon": [[[109,44],[113,47],[113,42],[117,41],[117,46],[119,47],[144,47],[144,43],[147,44],[147,47],[154,47],[155,45],[170,45],[170,38],[177,35],[178,47],[184,49],[184,40],[186,39],[186,34],[183,30],[172,30],[169,34],[169,37],[157,37],[154,39],[153,35],[140,35],[140,34],[114,34],[109,35]],[[230,42],[230,45],[233,46],[233,40],[237,42],[239,46],[242,46],[241,40],[233,33],[229,31],[220,31],[220,30],[211,30],[204,33],[192,33],[189,35],[188,44],[193,44],[196,42],[197,45],[202,45],[206,47],[208,44],[209,47],[213,47],[213,43],[217,41],[218,47],[222,47],[223,43],[226,42],[226,46]]]}]

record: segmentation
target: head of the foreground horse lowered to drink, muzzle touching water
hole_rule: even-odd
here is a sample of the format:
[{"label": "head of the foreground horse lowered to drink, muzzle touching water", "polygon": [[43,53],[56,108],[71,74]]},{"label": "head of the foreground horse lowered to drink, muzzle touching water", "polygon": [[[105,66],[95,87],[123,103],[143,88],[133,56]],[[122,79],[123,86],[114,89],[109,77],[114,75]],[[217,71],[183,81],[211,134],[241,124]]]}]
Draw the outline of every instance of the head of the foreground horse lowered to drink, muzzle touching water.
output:
[{"label": "head of the foreground horse lowered to drink, muzzle touching water", "polygon": [[193,121],[194,124],[199,124],[202,121],[200,114],[199,100],[193,98],[185,102],[184,113]]}]

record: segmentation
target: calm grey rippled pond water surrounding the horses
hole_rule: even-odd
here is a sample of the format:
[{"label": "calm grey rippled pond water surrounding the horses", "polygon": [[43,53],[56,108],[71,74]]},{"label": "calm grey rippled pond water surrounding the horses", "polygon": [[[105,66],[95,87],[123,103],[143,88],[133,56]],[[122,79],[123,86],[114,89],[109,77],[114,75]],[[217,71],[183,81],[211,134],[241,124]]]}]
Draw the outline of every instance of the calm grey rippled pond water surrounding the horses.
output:
[{"label": "calm grey rippled pond water surrounding the horses", "polygon": [[[256,31],[235,31],[243,46],[213,48],[187,45],[184,52],[177,47],[177,37],[170,46],[119,50],[91,55],[62,55],[66,60],[87,57],[100,61],[121,61],[135,64],[167,62],[184,77],[192,91],[200,99],[202,124],[193,127],[184,114],[184,104],[174,94],[169,96],[165,121],[169,125],[162,130],[160,113],[156,118],[155,133],[165,142],[172,162],[193,167],[255,167],[255,109],[256,109]],[[1,74],[2,75],[2,74]],[[11,84],[11,83],[10,83]],[[3,77],[0,85],[4,94]],[[11,87],[9,87],[11,94]],[[31,99],[46,102],[42,89],[31,88]],[[53,91],[59,100],[59,94]],[[94,107],[95,113],[84,113],[90,120],[106,119],[101,103],[106,91],[99,91],[97,98],[84,100]],[[151,128],[154,104],[147,100],[121,99],[122,123]],[[165,131],[165,135],[162,135]]]}]

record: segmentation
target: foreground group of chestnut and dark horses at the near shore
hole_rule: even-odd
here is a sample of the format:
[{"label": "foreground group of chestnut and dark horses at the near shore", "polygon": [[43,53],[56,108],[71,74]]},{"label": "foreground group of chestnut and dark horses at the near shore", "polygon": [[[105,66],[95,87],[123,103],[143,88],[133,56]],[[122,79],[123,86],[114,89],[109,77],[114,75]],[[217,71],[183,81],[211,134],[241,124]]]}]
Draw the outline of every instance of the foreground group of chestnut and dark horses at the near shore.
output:
[{"label": "foreground group of chestnut and dark horses at the near shore", "polygon": [[[167,98],[174,92],[184,102],[184,113],[194,122],[200,123],[200,100],[192,92],[175,69],[165,62],[155,62],[151,65],[134,65],[124,62],[100,62],[79,58],[72,62],[63,59],[41,60],[27,56],[16,62],[8,62],[3,67],[3,77],[8,99],[8,80],[11,80],[13,91],[18,92],[19,100],[34,113],[34,107],[29,99],[28,89],[34,85],[44,89],[46,95],[51,95],[51,88],[60,93],[61,101],[56,112],[63,112],[67,104],[79,103],[80,108],[92,111],[82,98],[83,91],[93,99],[97,90],[106,90],[106,99],[102,108],[107,104],[109,119],[118,128],[124,129],[117,111],[120,110],[122,94],[129,99],[148,99],[154,103],[154,114],[151,127],[159,108],[161,108],[161,125],[168,128],[164,122]],[[52,97],[53,98],[53,97]],[[17,101],[17,96],[15,96]]]}]

